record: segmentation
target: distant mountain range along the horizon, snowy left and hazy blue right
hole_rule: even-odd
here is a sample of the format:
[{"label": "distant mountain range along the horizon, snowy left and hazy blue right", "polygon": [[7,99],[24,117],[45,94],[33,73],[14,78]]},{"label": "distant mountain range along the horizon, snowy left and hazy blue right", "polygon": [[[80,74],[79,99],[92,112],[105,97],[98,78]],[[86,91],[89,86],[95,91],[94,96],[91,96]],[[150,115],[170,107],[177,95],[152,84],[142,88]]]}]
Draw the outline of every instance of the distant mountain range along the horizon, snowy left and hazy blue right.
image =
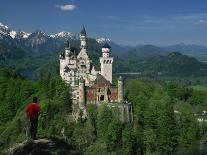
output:
[{"label": "distant mountain range along the horizon, snowy left and hazy blue right", "polygon": [[[41,30],[36,30],[33,33],[27,33],[25,31],[11,30],[8,26],[0,23],[0,45],[1,42],[7,42],[12,46],[17,46],[26,52],[33,54],[46,54],[54,53],[56,50],[63,48],[66,41],[76,40],[75,35],[71,32],[58,32],[56,34],[46,34]],[[97,38],[96,41],[99,44],[104,42],[110,42],[112,52],[118,56],[137,56],[140,58],[163,56],[170,52],[180,52],[185,55],[196,57],[201,61],[207,60],[207,47],[193,44],[177,44],[166,47],[158,47],[154,45],[137,45],[137,46],[125,46],[119,45],[109,38]]]}]

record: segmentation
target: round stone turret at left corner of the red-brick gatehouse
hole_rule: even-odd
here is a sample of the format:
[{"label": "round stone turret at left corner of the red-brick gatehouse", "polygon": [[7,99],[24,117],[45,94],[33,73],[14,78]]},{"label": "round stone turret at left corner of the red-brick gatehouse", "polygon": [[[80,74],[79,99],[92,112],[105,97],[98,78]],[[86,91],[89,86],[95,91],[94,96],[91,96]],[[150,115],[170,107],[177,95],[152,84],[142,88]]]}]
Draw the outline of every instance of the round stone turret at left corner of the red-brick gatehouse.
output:
[{"label": "round stone turret at left corner of the red-brick gatehouse", "polygon": [[84,109],[85,107],[85,99],[85,80],[81,77],[79,80],[79,107],[81,109]]}]

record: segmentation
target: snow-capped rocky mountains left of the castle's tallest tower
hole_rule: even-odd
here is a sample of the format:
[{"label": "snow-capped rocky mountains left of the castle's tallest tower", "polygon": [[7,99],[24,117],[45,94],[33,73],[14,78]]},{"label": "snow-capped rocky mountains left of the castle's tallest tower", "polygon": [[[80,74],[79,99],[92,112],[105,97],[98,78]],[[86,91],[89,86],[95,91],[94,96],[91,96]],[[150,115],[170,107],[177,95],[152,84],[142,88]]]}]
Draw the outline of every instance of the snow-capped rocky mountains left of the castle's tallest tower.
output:
[{"label": "snow-capped rocky mountains left of the castle's tallest tower", "polygon": [[12,30],[0,23],[0,40],[25,51],[52,53],[63,46],[68,39],[74,39],[74,35],[71,32],[62,31],[49,35],[41,30],[37,30],[33,33],[28,33]]}]

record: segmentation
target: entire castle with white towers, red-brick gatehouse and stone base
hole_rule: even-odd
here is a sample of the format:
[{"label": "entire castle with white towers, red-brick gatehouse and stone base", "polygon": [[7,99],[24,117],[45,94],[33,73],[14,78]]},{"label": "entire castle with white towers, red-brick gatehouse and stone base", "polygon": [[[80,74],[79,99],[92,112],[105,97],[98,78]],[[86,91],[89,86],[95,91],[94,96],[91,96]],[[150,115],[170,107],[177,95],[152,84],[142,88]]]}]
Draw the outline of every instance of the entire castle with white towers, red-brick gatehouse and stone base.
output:
[{"label": "entire castle with white towers, red-brick gatehouse and stone base", "polygon": [[[120,111],[121,121],[129,121],[131,105],[124,102],[123,79],[118,79],[118,86],[112,84],[113,57],[111,47],[106,42],[102,47],[100,70],[95,70],[88,56],[87,34],[83,27],[80,33],[80,52],[72,50],[68,42],[65,52],[60,55],[60,76],[72,89],[72,114],[75,119],[87,116],[86,105],[107,103]],[[127,117],[126,117],[127,116]]]}]

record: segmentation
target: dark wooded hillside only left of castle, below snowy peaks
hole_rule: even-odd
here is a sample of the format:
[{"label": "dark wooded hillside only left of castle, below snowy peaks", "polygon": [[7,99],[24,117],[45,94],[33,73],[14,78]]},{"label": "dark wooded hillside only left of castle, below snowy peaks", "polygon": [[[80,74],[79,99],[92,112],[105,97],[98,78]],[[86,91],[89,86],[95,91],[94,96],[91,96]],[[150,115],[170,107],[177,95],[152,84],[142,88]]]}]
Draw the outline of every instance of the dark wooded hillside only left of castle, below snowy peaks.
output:
[{"label": "dark wooded hillside only left of castle, below snowy peaks", "polygon": [[58,54],[35,56],[6,42],[1,42],[0,45],[0,65],[14,68],[26,78],[37,79],[43,73],[58,73]]}]

